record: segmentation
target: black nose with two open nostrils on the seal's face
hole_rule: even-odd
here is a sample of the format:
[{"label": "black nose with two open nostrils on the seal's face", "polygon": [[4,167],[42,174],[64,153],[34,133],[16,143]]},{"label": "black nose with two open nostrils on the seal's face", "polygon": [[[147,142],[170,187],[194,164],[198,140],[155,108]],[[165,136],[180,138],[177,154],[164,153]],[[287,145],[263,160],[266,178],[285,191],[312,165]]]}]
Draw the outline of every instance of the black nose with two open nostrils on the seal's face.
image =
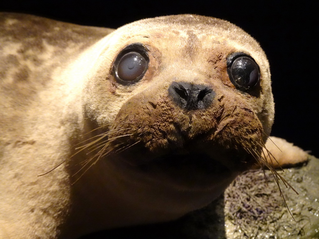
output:
[{"label": "black nose with two open nostrils on the seal's face", "polygon": [[168,94],[176,105],[185,110],[205,109],[215,97],[211,88],[186,82],[173,82],[168,88]]}]

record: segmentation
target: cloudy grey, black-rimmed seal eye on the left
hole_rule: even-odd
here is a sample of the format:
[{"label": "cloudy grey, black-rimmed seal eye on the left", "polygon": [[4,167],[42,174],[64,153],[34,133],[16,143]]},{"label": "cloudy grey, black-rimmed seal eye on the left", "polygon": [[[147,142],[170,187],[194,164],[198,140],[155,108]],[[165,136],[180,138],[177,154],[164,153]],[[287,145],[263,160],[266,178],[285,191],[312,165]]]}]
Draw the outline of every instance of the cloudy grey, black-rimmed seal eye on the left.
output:
[{"label": "cloudy grey, black-rimmed seal eye on the left", "polygon": [[113,73],[121,84],[139,81],[148,69],[148,53],[140,43],[125,47],[115,59]]}]

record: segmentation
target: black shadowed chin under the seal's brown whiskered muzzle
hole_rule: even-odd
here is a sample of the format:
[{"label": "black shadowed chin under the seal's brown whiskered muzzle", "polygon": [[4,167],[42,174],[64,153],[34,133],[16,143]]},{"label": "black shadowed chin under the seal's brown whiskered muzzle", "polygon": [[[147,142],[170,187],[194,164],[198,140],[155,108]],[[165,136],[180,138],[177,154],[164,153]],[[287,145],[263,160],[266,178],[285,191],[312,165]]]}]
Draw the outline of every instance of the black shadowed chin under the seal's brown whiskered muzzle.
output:
[{"label": "black shadowed chin under the seal's brown whiskered muzzle", "polygon": [[239,173],[247,169],[248,164],[242,162],[242,156],[229,157],[226,153],[216,156],[211,153],[171,153],[162,156],[148,155],[145,157],[148,160],[143,158],[139,162],[132,162],[120,157],[117,161],[122,161],[144,180],[148,178],[156,184],[191,191],[215,190],[224,183],[229,184]]}]

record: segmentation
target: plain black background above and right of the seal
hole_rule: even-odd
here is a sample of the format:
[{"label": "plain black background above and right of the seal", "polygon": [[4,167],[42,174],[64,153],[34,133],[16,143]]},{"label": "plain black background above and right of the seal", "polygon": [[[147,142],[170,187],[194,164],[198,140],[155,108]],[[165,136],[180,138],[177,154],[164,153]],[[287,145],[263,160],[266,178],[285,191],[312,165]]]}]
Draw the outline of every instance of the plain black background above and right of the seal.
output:
[{"label": "plain black background above and right of the seal", "polygon": [[276,103],[271,134],[319,157],[319,42],[315,35],[319,31],[316,7],[309,1],[4,1],[0,11],[110,28],[141,18],[182,13],[226,19],[256,38],[268,56]]}]

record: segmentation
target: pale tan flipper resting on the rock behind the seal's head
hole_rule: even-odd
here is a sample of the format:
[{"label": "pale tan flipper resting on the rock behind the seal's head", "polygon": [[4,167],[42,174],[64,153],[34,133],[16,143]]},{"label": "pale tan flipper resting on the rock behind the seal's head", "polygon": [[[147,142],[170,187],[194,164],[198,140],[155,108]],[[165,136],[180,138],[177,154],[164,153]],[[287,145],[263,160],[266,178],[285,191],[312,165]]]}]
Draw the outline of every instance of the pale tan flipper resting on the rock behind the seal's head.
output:
[{"label": "pale tan flipper resting on the rock behind the seal's head", "polygon": [[[308,153],[284,139],[271,136],[266,142],[266,148],[271,156],[263,149],[267,162],[274,168],[288,166],[307,161]],[[274,158],[276,160],[274,160]]]}]

